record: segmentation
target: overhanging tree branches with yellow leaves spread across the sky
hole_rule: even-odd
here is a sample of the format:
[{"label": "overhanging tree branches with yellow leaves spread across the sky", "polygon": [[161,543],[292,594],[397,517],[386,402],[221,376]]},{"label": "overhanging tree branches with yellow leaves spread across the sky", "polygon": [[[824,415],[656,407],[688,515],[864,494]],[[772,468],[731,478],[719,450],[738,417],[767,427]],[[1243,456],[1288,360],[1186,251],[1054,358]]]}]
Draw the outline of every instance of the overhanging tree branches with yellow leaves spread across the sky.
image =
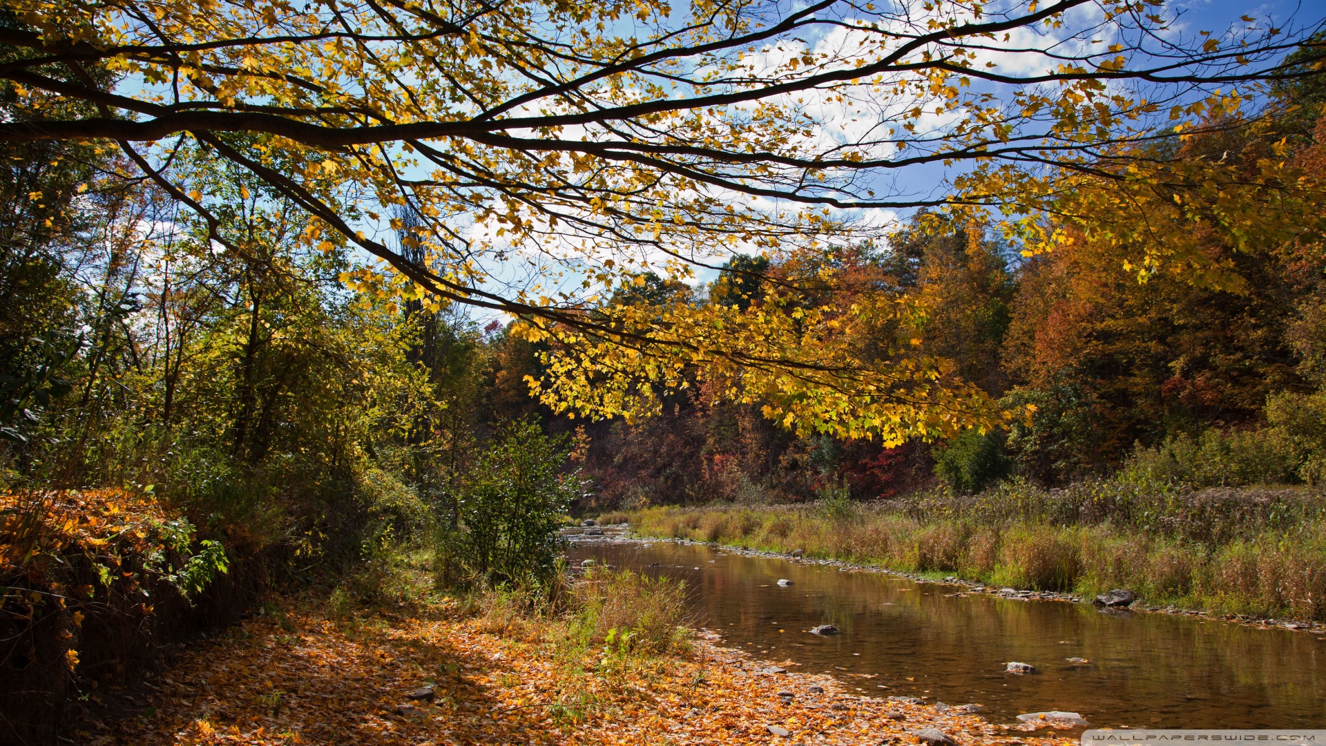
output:
[{"label": "overhanging tree branches with yellow leaves spread across the sky", "polygon": [[[863,333],[919,313],[894,295],[662,311],[602,299],[731,251],[815,255],[859,239],[869,210],[1001,210],[1033,251],[1062,235],[1048,212],[1109,231],[1119,222],[1071,203],[1111,195],[1191,192],[1242,226],[1254,208],[1207,192],[1220,166],[1170,169],[1164,149],[1138,145],[1225,126],[1212,112],[1258,117],[1264,82],[1315,74],[1281,60],[1318,24],[1246,17],[1188,37],[1159,0],[11,8],[0,80],[49,115],[0,123],[0,142],[113,143],[233,252],[227,198],[182,165],[239,167],[306,214],[300,240],[383,261],[347,272],[353,287],[511,313],[532,341],[554,338],[534,392],[558,409],[654,411],[695,368],[772,419],[886,442],[1001,422],[949,361]],[[953,175],[931,196],[892,178],[932,165]],[[1305,178],[1268,165],[1245,192],[1302,203]],[[399,230],[414,256],[389,246]],[[1139,267],[1213,276],[1181,246],[1131,250]]]}]

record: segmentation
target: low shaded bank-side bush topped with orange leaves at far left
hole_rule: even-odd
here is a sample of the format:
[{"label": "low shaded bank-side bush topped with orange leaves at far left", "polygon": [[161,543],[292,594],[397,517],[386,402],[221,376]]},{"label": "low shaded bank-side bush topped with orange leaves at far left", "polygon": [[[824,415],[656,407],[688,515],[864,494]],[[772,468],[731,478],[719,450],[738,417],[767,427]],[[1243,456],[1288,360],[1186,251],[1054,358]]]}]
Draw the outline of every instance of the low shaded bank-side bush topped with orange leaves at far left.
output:
[{"label": "low shaded bank-side bush topped with orange leaves at far left", "polygon": [[150,494],[0,495],[0,742],[54,743],[89,682],[155,662],[219,603],[237,612],[232,559]]}]

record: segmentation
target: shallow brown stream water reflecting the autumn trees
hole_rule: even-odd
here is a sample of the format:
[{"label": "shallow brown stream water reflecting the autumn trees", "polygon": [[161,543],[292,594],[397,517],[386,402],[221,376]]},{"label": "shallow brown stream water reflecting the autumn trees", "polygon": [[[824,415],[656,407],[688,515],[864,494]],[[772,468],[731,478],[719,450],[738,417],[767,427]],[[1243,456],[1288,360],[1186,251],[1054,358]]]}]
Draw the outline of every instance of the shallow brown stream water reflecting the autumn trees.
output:
[{"label": "shallow brown stream water reflecting the autumn trees", "polygon": [[[703,544],[570,539],[575,563],[684,580],[693,623],[723,645],[830,673],[862,694],[976,702],[994,722],[1070,710],[1095,727],[1326,725],[1326,640],[1301,632],[1106,615]],[[818,624],[842,633],[805,632]],[[1008,661],[1038,673],[1004,673]]]}]

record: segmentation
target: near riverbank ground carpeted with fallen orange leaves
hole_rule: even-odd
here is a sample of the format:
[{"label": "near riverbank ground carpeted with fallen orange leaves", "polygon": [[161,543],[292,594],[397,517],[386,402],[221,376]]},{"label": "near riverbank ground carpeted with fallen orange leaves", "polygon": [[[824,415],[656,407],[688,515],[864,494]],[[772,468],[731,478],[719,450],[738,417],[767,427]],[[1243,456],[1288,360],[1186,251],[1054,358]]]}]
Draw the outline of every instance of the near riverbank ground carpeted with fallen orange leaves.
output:
[{"label": "near riverbank ground carpeted with fallen orange leaves", "polygon": [[782,672],[790,664],[770,668],[704,637],[688,652],[623,654],[568,646],[556,620],[495,627],[456,599],[333,611],[308,599],[271,604],[179,652],[143,690],[105,693],[137,701],[137,711],[74,735],[103,746],[919,745],[914,731],[939,729],[961,745],[1018,741],[976,715],[849,696],[827,676]]}]

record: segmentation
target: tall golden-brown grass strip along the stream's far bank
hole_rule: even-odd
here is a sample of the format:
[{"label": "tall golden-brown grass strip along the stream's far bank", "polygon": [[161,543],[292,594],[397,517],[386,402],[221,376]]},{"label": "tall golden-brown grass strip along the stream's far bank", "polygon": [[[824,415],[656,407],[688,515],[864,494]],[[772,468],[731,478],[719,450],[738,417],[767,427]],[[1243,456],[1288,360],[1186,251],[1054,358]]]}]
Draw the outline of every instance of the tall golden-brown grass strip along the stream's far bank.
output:
[{"label": "tall golden-brown grass strip along the stream's far bank", "polygon": [[1215,613],[1326,621],[1319,494],[1215,488],[1146,494],[1119,483],[1045,491],[1008,483],[976,498],[927,495],[817,507],[652,507],[646,536],[675,536],[988,584]]}]

